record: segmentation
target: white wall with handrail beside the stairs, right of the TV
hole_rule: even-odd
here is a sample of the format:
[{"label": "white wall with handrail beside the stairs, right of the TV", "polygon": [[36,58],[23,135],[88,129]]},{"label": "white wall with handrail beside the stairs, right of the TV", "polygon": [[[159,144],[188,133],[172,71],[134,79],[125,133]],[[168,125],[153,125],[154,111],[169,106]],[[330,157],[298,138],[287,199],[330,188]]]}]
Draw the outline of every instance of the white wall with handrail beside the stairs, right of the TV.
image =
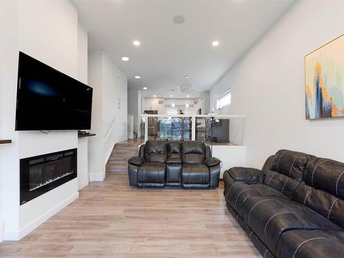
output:
[{"label": "white wall with handrail beside the stairs, right of the TV", "polygon": [[104,52],[90,51],[88,64],[88,83],[94,88],[91,131],[96,133],[89,138],[89,180],[98,181],[105,178],[114,144],[127,140],[127,77]]}]

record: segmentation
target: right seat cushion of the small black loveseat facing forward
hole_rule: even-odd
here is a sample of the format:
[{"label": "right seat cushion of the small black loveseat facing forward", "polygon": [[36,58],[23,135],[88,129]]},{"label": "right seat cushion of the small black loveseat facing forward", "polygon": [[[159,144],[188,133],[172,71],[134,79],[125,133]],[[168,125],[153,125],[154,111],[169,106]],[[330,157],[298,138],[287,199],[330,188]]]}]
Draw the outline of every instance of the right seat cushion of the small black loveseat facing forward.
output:
[{"label": "right seat cushion of the small black loveseat facing forward", "polygon": [[209,184],[210,171],[205,164],[182,164],[182,184]]}]

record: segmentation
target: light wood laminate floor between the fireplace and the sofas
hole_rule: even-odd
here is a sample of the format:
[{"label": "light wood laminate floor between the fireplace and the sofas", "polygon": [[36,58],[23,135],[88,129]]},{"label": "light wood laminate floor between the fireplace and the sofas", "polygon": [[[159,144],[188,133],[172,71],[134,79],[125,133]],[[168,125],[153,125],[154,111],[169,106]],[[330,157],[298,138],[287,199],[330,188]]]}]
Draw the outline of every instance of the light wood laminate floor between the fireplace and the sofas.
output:
[{"label": "light wood laminate floor between the fireplace and the sofas", "polygon": [[261,257],[222,191],[136,189],[108,173],[0,257]]}]

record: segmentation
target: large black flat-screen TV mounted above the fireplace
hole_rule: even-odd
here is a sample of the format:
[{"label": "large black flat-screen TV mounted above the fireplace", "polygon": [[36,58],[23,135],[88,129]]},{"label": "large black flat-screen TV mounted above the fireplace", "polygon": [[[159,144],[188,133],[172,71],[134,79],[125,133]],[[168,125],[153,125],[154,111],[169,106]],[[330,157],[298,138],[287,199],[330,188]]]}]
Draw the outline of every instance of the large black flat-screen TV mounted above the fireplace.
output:
[{"label": "large black flat-screen TV mounted above the fireplace", "polygon": [[92,87],[19,52],[16,131],[91,128]]}]

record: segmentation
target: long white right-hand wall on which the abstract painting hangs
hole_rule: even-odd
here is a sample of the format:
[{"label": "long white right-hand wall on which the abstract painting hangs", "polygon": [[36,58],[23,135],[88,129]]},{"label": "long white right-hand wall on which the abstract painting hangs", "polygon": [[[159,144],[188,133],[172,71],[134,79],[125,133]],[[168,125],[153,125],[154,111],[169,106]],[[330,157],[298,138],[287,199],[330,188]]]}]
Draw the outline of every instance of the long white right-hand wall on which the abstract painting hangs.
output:
[{"label": "long white right-hand wall on which the abstract painting hangs", "polygon": [[[305,120],[303,57],[343,34],[343,1],[299,1],[211,89],[232,89],[230,114],[246,115],[247,164],[278,149],[344,161],[344,120]],[[228,157],[230,158],[230,157]]]}]

